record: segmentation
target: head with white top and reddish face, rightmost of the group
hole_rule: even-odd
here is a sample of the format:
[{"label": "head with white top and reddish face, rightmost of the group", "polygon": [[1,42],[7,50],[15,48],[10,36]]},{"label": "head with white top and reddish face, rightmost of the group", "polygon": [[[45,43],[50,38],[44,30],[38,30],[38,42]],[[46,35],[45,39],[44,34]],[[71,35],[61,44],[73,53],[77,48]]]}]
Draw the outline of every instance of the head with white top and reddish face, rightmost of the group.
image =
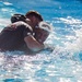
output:
[{"label": "head with white top and reddish face, rightmost of the group", "polygon": [[51,32],[51,26],[46,22],[40,22],[37,27],[38,42],[44,43]]}]

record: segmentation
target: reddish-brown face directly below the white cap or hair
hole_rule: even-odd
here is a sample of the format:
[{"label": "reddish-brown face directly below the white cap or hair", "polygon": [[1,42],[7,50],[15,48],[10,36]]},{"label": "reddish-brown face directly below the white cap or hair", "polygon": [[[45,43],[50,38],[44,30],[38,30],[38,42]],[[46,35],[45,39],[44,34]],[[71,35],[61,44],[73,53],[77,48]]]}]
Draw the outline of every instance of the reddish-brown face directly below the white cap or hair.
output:
[{"label": "reddish-brown face directly below the white cap or hair", "polygon": [[36,37],[39,43],[44,43],[48,37],[49,33],[43,28],[38,28],[36,32]]}]

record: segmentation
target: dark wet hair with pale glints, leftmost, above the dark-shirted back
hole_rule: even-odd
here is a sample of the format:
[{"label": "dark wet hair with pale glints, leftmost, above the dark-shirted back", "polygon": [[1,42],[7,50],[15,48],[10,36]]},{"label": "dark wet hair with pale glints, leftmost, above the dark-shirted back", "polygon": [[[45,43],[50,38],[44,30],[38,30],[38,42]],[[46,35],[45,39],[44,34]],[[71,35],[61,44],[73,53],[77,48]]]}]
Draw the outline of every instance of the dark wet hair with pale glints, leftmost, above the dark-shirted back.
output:
[{"label": "dark wet hair with pale glints, leftmost, above the dark-shirted back", "polygon": [[14,23],[14,22],[17,22],[17,21],[23,21],[25,22],[26,17],[23,15],[23,14],[13,14],[11,16],[11,22]]}]

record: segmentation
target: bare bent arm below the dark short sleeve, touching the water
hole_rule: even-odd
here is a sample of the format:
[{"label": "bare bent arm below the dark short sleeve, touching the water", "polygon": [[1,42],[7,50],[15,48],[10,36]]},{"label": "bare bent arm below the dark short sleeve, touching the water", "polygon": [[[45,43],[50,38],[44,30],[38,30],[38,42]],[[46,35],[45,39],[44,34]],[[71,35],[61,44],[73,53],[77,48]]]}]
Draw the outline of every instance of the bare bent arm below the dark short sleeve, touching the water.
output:
[{"label": "bare bent arm below the dark short sleeve, touching the water", "polygon": [[27,47],[32,50],[32,51],[39,51],[42,49],[44,49],[44,44],[39,44],[33,35],[28,35],[26,37],[24,37],[24,40],[27,45]]}]

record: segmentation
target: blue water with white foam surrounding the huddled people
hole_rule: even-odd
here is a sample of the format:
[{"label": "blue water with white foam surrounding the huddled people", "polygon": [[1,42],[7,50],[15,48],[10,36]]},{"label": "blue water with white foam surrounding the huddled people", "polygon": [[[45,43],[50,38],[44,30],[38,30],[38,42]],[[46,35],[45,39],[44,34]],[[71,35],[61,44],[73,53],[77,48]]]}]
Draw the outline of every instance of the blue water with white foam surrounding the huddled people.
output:
[{"label": "blue water with white foam surrounding the huddled people", "polygon": [[0,82],[82,82],[81,0],[0,0],[0,32],[14,13],[36,10],[54,26],[52,51],[0,52]]}]

